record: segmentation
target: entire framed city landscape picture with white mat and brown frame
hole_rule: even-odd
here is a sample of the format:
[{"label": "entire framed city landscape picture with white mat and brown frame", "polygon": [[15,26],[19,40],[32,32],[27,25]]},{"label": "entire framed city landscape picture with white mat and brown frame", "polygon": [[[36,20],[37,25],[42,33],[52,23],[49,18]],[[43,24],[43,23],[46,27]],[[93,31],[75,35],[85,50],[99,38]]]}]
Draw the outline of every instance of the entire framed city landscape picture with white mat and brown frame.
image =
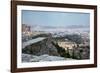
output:
[{"label": "entire framed city landscape picture with white mat and brown frame", "polygon": [[11,1],[11,72],[97,67],[97,6]]}]

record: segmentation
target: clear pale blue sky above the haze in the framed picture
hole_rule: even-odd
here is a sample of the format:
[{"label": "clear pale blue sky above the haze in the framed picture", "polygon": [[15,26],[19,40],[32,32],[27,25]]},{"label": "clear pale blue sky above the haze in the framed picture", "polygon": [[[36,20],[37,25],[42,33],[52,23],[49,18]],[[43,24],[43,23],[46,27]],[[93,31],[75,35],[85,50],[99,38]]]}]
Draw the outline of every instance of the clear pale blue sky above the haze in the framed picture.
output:
[{"label": "clear pale blue sky above the haze in the framed picture", "polygon": [[89,13],[22,10],[22,23],[43,26],[90,25]]}]

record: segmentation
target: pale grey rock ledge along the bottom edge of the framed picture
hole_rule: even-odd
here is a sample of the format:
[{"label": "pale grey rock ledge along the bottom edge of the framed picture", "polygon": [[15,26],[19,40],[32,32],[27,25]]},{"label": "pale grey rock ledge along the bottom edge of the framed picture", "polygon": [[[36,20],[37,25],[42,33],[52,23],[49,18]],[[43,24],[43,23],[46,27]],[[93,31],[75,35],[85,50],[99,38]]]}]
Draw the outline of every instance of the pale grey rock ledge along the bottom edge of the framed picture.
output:
[{"label": "pale grey rock ledge along the bottom edge of the framed picture", "polygon": [[50,56],[48,54],[44,54],[41,56],[22,54],[22,62],[44,62],[44,61],[61,61],[61,60],[74,60],[74,59],[64,58],[59,56]]}]

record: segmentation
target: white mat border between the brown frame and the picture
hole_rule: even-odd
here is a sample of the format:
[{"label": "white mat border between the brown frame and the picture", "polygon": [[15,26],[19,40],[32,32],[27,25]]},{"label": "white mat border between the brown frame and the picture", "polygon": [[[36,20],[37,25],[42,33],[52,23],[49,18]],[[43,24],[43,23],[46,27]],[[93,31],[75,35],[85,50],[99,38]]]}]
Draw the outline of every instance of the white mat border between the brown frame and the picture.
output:
[{"label": "white mat border between the brown frame and the picture", "polygon": [[[22,25],[21,24],[21,10],[90,13],[90,59],[89,60],[74,60],[74,61],[67,61],[67,62],[66,61],[54,61],[54,62],[21,63],[21,50],[22,50],[21,49],[21,25]],[[18,35],[17,35],[17,68],[94,64],[94,10],[93,9],[18,5],[17,6],[17,32],[18,32]]]}]

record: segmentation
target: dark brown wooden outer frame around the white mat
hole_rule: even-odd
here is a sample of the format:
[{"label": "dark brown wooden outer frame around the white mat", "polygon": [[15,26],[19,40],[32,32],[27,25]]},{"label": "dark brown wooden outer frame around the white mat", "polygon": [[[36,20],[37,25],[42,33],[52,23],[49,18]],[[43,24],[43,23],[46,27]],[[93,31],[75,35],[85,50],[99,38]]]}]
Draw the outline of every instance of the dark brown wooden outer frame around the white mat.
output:
[{"label": "dark brown wooden outer frame around the white mat", "polygon": [[[17,68],[17,45],[18,45],[17,44],[17,33],[18,33],[17,32],[17,5],[93,9],[94,10],[94,64]],[[28,71],[74,69],[74,68],[90,68],[90,67],[97,67],[97,6],[32,2],[32,1],[11,1],[11,72],[12,73],[28,72]]]}]

